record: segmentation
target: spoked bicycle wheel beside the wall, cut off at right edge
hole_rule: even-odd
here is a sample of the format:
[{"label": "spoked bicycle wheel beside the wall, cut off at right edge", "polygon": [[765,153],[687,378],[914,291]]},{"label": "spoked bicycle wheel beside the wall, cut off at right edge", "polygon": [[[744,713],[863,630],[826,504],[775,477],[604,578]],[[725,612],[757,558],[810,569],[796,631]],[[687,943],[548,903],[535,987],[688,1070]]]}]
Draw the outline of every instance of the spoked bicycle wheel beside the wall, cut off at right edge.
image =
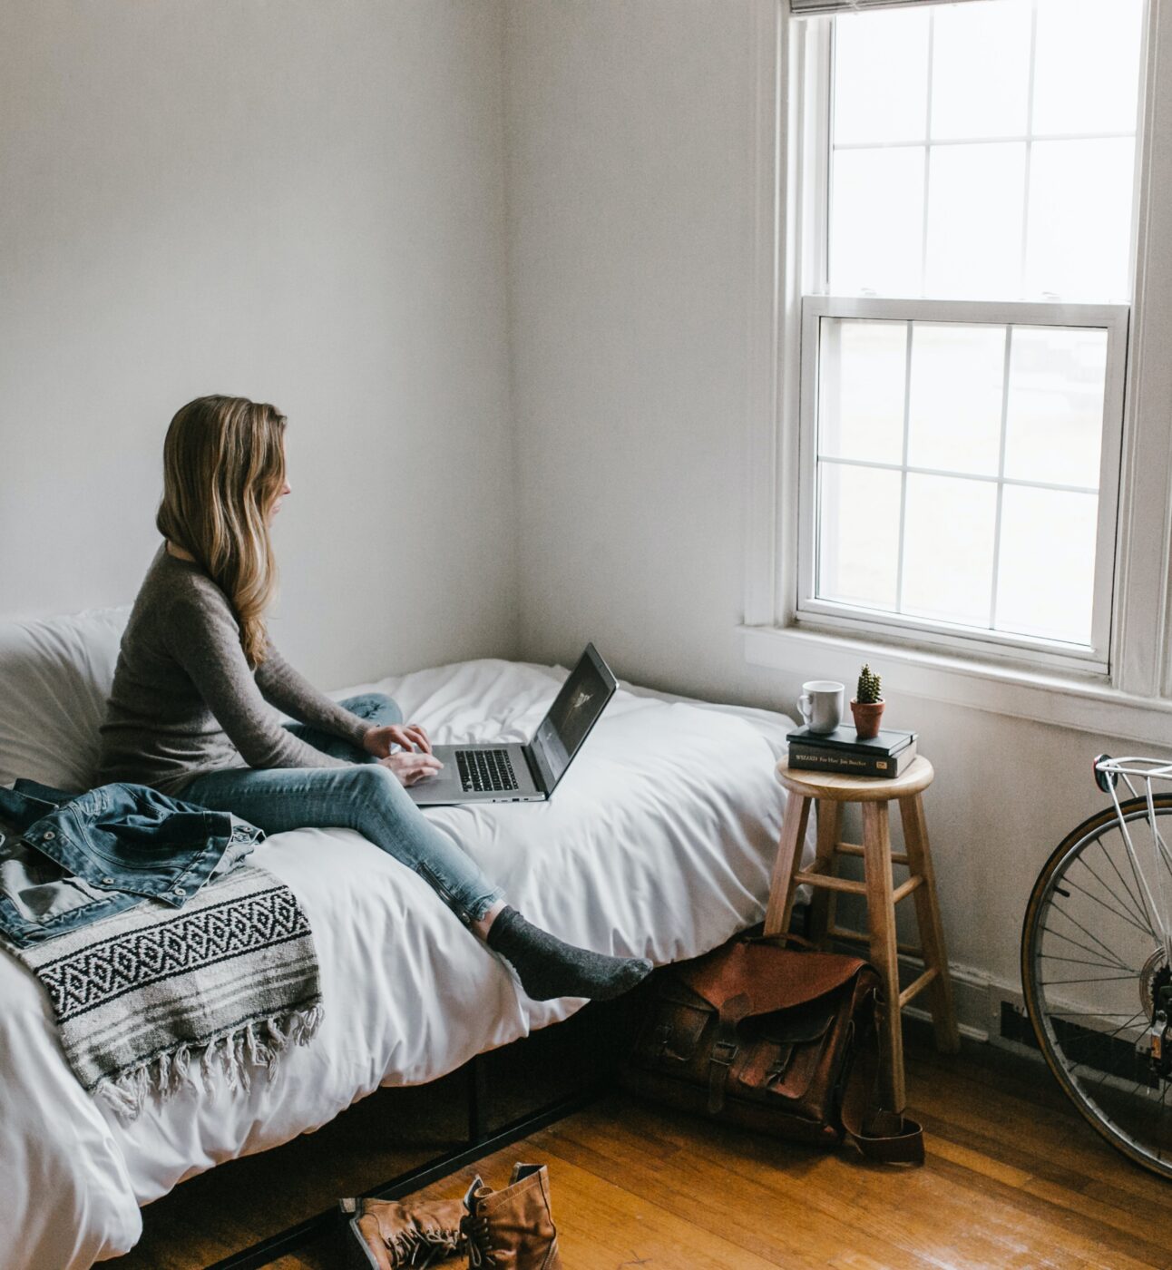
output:
[{"label": "spoked bicycle wheel beside the wall, cut off at right edge", "polygon": [[[1172,795],[1153,805],[1172,843]],[[1172,1179],[1172,1082],[1147,1053],[1154,999],[1172,973],[1149,909],[1168,880],[1157,871],[1168,866],[1147,800],[1121,810],[1134,860],[1112,806],[1068,833],[1039,874],[1022,926],[1021,978],[1041,1052],[1078,1110],[1124,1154]]]}]

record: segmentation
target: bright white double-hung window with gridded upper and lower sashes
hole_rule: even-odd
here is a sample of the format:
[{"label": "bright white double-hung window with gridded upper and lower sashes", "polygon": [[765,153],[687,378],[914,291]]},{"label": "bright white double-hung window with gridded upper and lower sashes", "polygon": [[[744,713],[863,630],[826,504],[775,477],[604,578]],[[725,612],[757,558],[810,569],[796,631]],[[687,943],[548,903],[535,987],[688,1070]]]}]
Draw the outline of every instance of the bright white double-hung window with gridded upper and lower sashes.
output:
[{"label": "bright white double-hung window with gridded upper and lower sashes", "polygon": [[1143,19],[806,24],[799,624],[1109,672]]}]

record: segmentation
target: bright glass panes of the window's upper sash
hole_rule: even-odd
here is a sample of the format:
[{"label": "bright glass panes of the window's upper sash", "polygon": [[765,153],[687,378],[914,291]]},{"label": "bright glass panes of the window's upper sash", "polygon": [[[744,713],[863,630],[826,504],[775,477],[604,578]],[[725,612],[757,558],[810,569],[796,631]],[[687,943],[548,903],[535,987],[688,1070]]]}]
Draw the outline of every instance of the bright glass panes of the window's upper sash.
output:
[{"label": "bright glass panes of the window's upper sash", "polygon": [[[1124,34],[1105,42],[1105,75],[1111,86],[1124,84],[1134,61],[1133,88],[1138,89],[1140,5],[1139,0],[1120,4],[1119,19],[1112,17],[1112,23]],[[1046,15],[1044,37],[1039,34],[1040,11]],[[1062,128],[1063,94],[1069,97],[1063,79],[1069,72],[1063,66],[1072,58],[1063,44],[1068,37],[1062,10],[1054,8],[1053,0],[989,0],[962,13],[937,13],[935,6],[927,13],[908,11],[900,47],[893,52],[880,44],[870,57],[870,62],[891,60],[890,79],[905,81],[894,107],[877,104],[877,71],[869,65],[865,47],[881,32],[876,18],[890,24],[890,15],[884,19],[877,14],[834,19],[830,222],[823,291],[1125,300],[1131,251],[1120,249],[1096,265],[1084,263],[1083,257],[1091,253],[1079,248],[1088,240],[1121,239],[1130,246],[1135,127],[1120,123],[1130,124],[1136,110],[1128,117],[1124,91],[1124,110],[1102,113],[1102,128],[1097,127],[1100,116],[1088,110],[1067,110],[1075,126]],[[982,52],[987,57],[988,81],[978,76],[975,85],[980,91],[966,94],[964,85],[957,89],[951,83],[962,65],[957,62],[957,48],[962,46],[959,36],[970,30],[957,23],[970,23],[971,30],[980,30],[979,24],[985,23],[984,44],[973,58],[980,62]],[[998,108],[998,89],[1006,84],[997,80],[998,58],[990,56],[998,23],[1002,36],[1012,29],[1025,46],[1012,94],[1018,104],[1009,113]],[[951,60],[943,69],[937,58],[942,30],[951,39]],[[846,43],[844,32],[851,36]],[[1095,56],[1083,46],[1074,51]],[[1041,62],[1045,75],[1040,72]],[[919,109],[913,112],[912,95],[921,93]],[[976,104],[957,108],[957,102],[969,98]],[[942,100],[950,103],[946,114],[951,122],[933,114]],[[1042,114],[1040,100],[1046,107]],[[1138,109],[1138,91],[1133,102]],[[875,118],[870,121],[872,103]],[[974,123],[985,127],[974,128]],[[960,135],[952,135],[956,132]],[[1068,152],[1055,150],[1064,144]],[[1110,149],[1112,144],[1115,150]],[[1037,145],[1048,147],[1041,169],[1035,164]],[[951,156],[947,171],[941,168],[946,154]],[[1006,240],[1011,222],[1016,226],[1012,246]],[[1055,222],[1060,227],[1058,237]],[[917,236],[914,246],[905,241]]]}]

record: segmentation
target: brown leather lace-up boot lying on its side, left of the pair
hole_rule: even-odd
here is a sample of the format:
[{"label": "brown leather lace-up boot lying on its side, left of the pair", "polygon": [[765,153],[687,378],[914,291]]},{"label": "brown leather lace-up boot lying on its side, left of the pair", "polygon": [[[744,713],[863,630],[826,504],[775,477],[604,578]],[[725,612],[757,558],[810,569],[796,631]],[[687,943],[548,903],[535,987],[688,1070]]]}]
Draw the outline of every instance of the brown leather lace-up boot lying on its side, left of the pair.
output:
[{"label": "brown leather lace-up boot lying on its side, left of the pair", "polygon": [[382,1199],[338,1201],[347,1222],[347,1257],[353,1270],[424,1270],[465,1250],[458,1199],[396,1204]]}]

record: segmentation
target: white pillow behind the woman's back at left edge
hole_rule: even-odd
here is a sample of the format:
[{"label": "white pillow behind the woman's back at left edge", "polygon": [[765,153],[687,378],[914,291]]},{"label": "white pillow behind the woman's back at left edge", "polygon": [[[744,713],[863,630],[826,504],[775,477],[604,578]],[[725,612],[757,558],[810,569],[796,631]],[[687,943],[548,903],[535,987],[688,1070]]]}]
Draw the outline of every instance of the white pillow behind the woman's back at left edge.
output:
[{"label": "white pillow behind the woman's back at left edge", "polygon": [[0,622],[0,785],[89,789],[130,606]]}]

